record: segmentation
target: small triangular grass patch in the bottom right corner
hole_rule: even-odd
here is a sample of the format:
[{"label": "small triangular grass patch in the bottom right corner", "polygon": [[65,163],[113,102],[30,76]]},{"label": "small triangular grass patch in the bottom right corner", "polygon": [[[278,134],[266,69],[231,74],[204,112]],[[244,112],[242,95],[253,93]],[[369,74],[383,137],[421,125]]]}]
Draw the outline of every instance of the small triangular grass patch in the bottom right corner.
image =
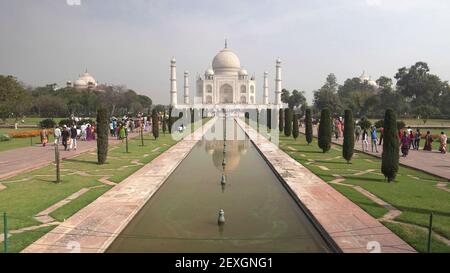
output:
[{"label": "small triangular grass patch in the bottom right corner", "polygon": [[[428,252],[428,232],[411,226],[383,222],[383,224],[419,252]],[[436,236],[431,238],[432,253],[450,253],[450,246],[441,242]]]}]

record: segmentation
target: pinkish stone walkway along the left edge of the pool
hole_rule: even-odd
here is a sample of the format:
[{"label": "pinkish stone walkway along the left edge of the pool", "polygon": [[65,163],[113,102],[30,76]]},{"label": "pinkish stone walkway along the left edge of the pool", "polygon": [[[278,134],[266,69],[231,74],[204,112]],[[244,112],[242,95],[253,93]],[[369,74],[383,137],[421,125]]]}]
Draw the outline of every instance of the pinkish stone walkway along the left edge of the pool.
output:
[{"label": "pinkish stone walkway along the left edge of the pool", "polygon": [[24,253],[104,252],[214,124],[215,118],[23,250]]}]

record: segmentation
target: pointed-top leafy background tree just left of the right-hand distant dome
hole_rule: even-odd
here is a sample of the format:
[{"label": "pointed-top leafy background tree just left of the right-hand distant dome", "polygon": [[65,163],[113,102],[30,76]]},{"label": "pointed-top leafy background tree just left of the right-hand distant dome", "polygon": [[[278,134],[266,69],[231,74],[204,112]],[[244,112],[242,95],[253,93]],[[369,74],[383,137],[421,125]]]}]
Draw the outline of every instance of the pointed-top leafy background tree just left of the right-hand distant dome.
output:
[{"label": "pointed-top leafy background tree just left of the right-hand distant dome", "polygon": [[314,92],[314,107],[319,111],[328,108],[333,113],[338,113],[341,110],[341,102],[337,90],[336,76],[334,74],[328,75],[325,84]]}]

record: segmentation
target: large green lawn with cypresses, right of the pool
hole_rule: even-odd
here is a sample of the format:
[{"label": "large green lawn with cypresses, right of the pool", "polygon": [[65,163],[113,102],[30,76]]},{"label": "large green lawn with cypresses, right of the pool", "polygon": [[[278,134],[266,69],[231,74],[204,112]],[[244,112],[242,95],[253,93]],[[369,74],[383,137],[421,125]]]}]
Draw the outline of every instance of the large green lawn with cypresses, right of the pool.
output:
[{"label": "large green lawn with cypresses, right of the pool", "polygon": [[[252,126],[256,128],[254,123]],[[450,193],[436,188],[436,184],[441,181],[439,178],[400,165],[395,182],[388,183],[380,170],[381,159],[355,152],[351,164],[347,164],[342,158],[341,146],[332,145],[329,152],[323,153],[318,148],[316,138],[308,145],[302,134],[297,140],[280,134],[279,145],[280,149],[324,181],[330,182],[335,179],[333,175],[340,175],[345,178],[344,183],[360,186],[392,204],[402,211],[402,214],[395,219],[397,221],[427,227],[429,214],[433,212],[433,231],[447,239],[450,238]],[[292,148],[295,151],[292,151]],[[314,163],[311,164],[308,160],[314,160]],[[324,166],[329,170],[322,170],[318,166]],[[373,170],[373,172],[355,175],[367,170]],[[364,196],[358,192],[357,194],[354,190],[345,189],[343,186],[338,186],[336,189],[373,217],[379,218],[382,214],[381,206],[368,202],[367,198],[363,198]],[[398,229],[401,228],[403,227]],[[395,230],[394,232],[397,233]],[[410,233],[405,231],[404,234],[407,236]]]}]

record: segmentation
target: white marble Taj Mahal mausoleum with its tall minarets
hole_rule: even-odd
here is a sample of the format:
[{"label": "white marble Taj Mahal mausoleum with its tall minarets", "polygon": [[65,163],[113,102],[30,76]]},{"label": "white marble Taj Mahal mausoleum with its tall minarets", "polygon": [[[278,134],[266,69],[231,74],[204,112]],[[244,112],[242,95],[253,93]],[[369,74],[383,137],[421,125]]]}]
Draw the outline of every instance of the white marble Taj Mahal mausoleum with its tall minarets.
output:
[{"label": "white marble Taj Mahal mausoleum with its tall minarets", "polygon": [[178,109],[266,109],[281,107],[281,60],[276,61],[275,102],[269,103],[268,73],[264,72],[263,99],[256,100],[256,80],[249,77],[247,70],[241,68],[239,58],[227,47],[222,49],[213,59],[212,68],[199,76],[196,82],[196,93],[193,103],[189,94],[189,73],[184,72],[184,99],[177,101],[176,60],[171,60],[170,104]]}]

